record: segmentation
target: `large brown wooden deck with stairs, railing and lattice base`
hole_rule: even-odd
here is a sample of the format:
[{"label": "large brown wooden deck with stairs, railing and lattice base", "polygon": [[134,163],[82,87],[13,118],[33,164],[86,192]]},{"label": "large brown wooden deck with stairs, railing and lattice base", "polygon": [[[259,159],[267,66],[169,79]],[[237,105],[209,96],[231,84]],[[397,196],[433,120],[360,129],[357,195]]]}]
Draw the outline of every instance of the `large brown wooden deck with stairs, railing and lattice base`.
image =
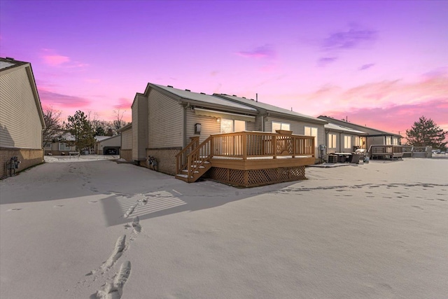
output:
[{"label": "large brown wooden deck with stairs, railing and lattice base", "polygon": [[[193,140],[176,156],[176,178],[193,182],[205,174],[239,186],[304,179],[315,161],[314,137],[292,132],[213,134]],[[271,170],[269,170],[271,169]]]}]

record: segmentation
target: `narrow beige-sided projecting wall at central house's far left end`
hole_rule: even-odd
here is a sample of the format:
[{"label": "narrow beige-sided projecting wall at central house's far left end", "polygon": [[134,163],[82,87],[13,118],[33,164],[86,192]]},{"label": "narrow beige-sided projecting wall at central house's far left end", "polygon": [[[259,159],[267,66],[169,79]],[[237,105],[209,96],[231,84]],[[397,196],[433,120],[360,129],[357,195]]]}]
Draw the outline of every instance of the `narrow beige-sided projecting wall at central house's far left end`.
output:
[{"label": "narrow beige-sided projecting wall at central house's far left end", "polygon": [[132,160],[146,159],[148,99],[137,94],[132,105]]}]

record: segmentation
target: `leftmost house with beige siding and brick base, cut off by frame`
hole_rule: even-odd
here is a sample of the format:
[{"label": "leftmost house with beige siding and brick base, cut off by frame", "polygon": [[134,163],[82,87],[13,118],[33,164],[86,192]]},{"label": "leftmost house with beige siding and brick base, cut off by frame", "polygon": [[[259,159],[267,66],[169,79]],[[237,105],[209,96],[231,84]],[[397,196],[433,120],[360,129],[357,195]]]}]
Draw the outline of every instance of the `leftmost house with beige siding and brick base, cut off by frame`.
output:
[{"label": "leftmost house with beige siding and brick base, cut off by frame", "polygon": [[0,178],[18,157],[25,169],[43,162],[41,100],[29,62],[0,58]]}]

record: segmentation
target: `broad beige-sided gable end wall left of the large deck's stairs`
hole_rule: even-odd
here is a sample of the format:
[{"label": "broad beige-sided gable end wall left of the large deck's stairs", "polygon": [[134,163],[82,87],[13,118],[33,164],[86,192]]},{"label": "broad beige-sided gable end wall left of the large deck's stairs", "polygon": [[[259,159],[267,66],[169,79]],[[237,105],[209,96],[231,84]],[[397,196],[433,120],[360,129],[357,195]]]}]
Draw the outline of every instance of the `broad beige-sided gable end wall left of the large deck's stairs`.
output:
[{"label": "broad beige-sided gable end wall left of the large deck's stairs", "polygon": [[148,148],[182,147],[183,106],[153,89],[148,98]]}]

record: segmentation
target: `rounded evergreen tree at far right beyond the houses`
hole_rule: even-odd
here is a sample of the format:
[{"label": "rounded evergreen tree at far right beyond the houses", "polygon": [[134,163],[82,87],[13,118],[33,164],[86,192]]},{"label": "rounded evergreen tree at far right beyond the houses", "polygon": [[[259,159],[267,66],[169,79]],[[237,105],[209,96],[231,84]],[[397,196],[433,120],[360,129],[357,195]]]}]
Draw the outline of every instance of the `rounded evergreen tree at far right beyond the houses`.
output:
[{"label": "rounded evergreen tree at far right beyond the houses", "polygon": [[444,141],[448,132],[444,132],[430,118],[424,116],[414,122],[411,129],[406,130],[407,142],[412,146],[432,146],[446,150],[447,141]]}]

